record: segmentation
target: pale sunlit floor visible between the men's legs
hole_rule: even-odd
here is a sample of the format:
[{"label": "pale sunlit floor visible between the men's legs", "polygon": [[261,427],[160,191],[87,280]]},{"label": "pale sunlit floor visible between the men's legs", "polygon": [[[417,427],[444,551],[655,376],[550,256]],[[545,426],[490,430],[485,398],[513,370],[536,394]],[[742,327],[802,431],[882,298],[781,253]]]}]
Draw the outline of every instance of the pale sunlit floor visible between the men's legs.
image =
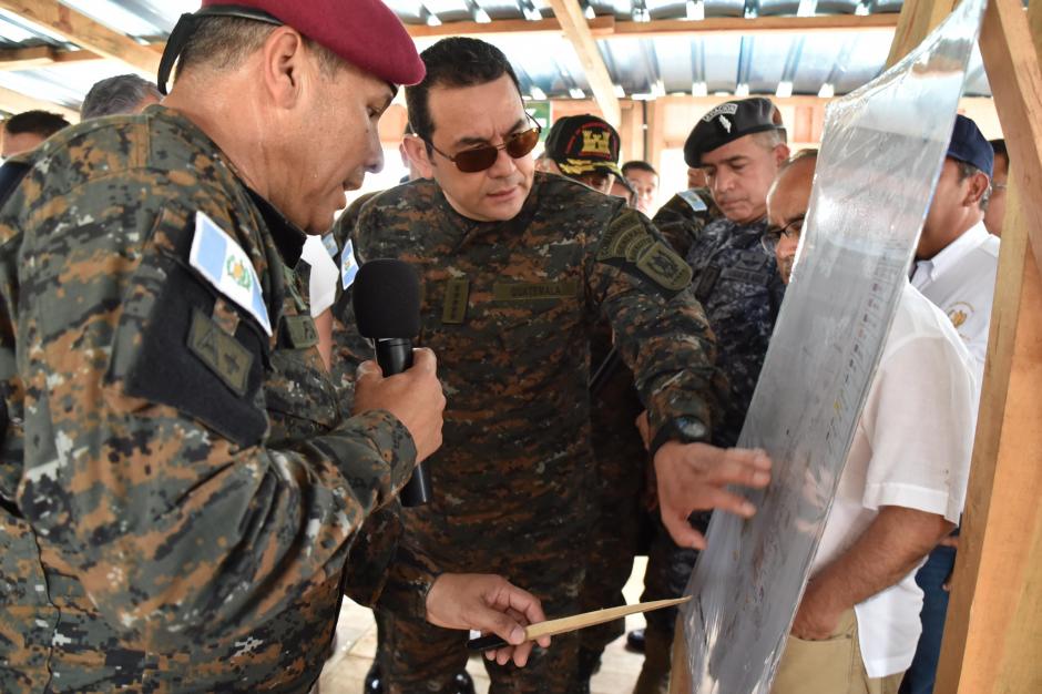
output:
[{"label": "pale sunlit floor visible between the men's legs", "polygon": [[[633,573],[623,590],[627,603],[640,600],[645,564],[644,558],[639,558],[633,564]],[[626,631],[642,626],[643,615],[626,618]],[[601,661],[601,671],[591,682],[592,694],[626,694],[633,691],[644,656],[626,651],[624,644],[625,637],[620,637],[607,646]],[[372,621],[372,612],[345,600],[337,624],[337,651],[323,670],[320,694],[362,694],[366,673],[375,654],[376,623]],[[480,655],[470,659],[467,671],[474,678],[478,693],[486,694],[489,680]]]}]

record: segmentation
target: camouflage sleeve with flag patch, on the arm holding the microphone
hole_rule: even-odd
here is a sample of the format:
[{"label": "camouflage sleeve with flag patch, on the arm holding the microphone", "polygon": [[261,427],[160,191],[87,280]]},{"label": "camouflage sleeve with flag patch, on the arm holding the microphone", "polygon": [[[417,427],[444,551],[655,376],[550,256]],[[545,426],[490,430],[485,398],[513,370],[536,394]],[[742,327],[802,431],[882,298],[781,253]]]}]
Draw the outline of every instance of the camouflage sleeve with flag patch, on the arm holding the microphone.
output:
[{"label": "camouflage sleeve with flag patch, on the arm holding the microphone", "polygon": [[25,387],[19,506],[127,642],[248,632],[338,575],[411,473],[412,439],[371,411],[268,448],[268,338],[186,262],[205,208],[276,282],[234,205],[163,172],[48,181],[0,216],[2,241],[22,233],[20,286],[2,287]]}]

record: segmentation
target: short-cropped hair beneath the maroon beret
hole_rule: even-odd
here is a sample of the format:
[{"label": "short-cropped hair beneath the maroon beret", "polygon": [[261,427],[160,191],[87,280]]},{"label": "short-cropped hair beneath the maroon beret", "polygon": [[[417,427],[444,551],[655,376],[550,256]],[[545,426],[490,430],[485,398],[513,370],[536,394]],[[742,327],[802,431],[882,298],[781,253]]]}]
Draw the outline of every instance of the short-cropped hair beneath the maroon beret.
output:
[{"label": "short-cropped hair beneath the maroon beret", "polygon": [[[239,67],[254,51],[260,50],[275,24],[241,17],[207,17],[185,42],[177,60],[177,76],[185,70],[206,65],[216,70]],[[304,37],[308,50],[316,53],[326,74],[333,74],[344,64],[339,55]]]}]

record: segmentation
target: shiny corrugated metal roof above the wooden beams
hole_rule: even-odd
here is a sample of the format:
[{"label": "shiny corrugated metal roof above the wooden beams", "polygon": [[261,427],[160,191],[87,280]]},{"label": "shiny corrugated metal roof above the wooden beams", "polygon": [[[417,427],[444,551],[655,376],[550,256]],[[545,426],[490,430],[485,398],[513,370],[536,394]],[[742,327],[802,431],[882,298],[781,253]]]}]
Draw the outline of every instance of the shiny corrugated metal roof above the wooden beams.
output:
[{"label": "shiny corrugated metal roof above the wooden beams", "polygon": [[[182,12],[198,0],[62,0],[141,42],[164,39]],[[387,0],[407,24],[448,24],[553,17],[545,0]],[[899,0],[589,0],[588,17],[616,22],[716,17],[867,14],[898,12]],[[590,96],[590,84],[571,43],[548,33],[489,34],[510,58],[522,90],[534,99]],[[670,35],[600,39],[597,47],[620,96],[664,94],[818,94],[830,85],[847,93],[882,69],[892,31],[755,35]],[[425,48],[436,39],[420,39]],[[75,49],[61,37],[0,11],[0,48],[52,45]],[[122,63],[90,61],[0,72],[0,85],[78,109],[98,80],[129,71]],[[782,91],[779,92],[779,85]],[[967,95],[989,95],[979,53],[971,62]]]}]

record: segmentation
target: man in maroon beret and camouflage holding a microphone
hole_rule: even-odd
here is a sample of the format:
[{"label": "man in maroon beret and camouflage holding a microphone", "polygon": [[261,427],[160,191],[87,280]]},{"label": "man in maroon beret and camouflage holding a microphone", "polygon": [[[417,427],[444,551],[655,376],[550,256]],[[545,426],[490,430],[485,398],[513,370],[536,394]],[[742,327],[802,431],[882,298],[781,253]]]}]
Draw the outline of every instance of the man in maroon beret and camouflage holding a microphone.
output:
[{"label": "man in maroon beret and camouflage holding a microphone", "polygon": [[[203,4],[166,106],[6,172],[6,694],[309,691],[354,538],[440,443],[426,350],[362,366],[341,411],[289,269],[379,166],[391,83],[423,74],[411,40],[376,0]],[[542,619],[499,576],[395,571],[384,599],[435,623],[518,643],[510,615]]]}]

